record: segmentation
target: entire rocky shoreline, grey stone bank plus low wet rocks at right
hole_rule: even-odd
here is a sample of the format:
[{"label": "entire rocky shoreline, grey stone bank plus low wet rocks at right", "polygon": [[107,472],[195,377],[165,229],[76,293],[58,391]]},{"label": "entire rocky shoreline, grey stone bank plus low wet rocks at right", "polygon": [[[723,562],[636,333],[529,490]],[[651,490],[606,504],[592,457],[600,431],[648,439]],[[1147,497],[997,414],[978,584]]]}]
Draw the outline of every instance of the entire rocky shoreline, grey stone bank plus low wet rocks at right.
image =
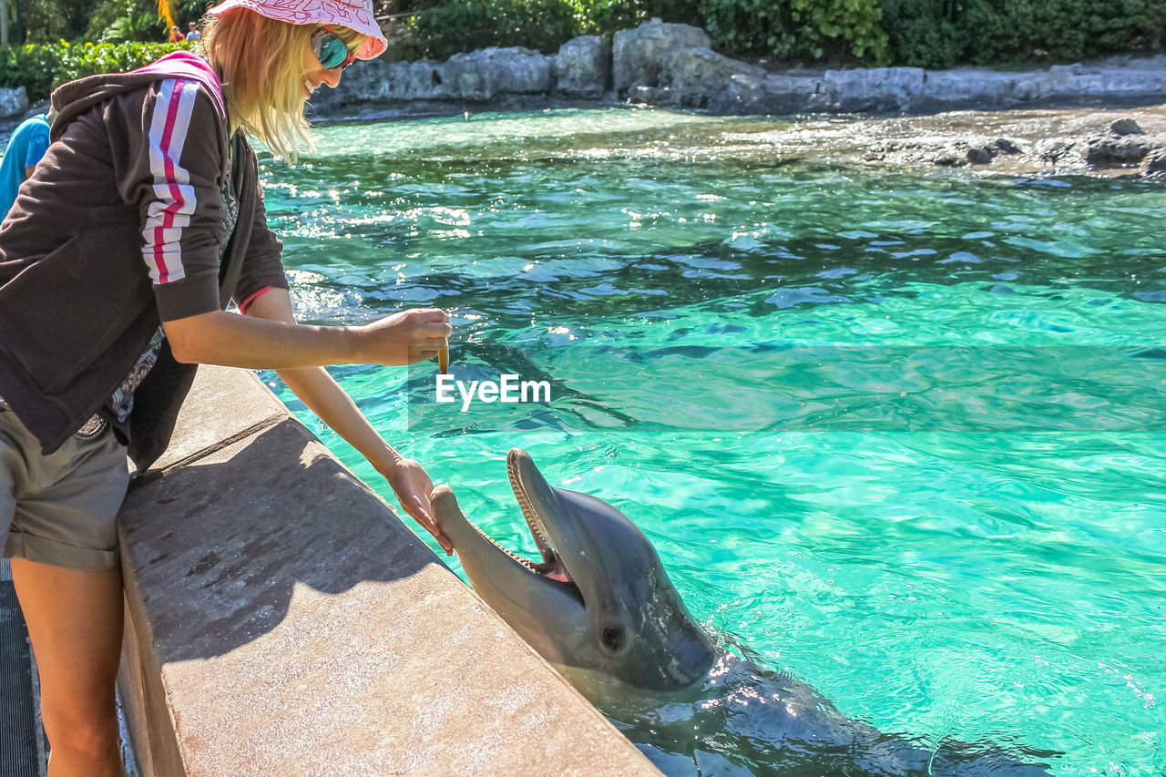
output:
[{"label": "entire rocky shoreline, grey stone bank plus low wet rocks at right", "polygon": [[[491,48],[445,62],[363,62],[316,93],[309,117],[338,124],[617,106],[788,117],[773,140],[782,156],[1166,178],[1166,54],[1026,72],[770,71],[709,47],[700,28],[652,20],[610,44],[577,37],[554,55]],[[3,91],[22,98],[22,89]],[[0,142],[23,116],[0,119]]]}]

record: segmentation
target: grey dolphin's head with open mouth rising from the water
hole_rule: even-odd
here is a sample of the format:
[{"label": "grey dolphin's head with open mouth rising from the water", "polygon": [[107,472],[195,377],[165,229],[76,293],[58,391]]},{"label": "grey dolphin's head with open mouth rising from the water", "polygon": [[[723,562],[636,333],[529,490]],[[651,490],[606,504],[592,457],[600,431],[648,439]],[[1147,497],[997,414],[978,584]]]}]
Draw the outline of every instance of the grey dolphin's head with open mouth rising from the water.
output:
[{"label": "grey dolphin's head with open mouth rising from the water", "polygon": [[519,448],[511,488],[542,555],[506,551],[434,491],[437,525],[475,590],[553,664],[669,691],[702,679],[716,654],[644,533],[606,502],[553,488]]}]

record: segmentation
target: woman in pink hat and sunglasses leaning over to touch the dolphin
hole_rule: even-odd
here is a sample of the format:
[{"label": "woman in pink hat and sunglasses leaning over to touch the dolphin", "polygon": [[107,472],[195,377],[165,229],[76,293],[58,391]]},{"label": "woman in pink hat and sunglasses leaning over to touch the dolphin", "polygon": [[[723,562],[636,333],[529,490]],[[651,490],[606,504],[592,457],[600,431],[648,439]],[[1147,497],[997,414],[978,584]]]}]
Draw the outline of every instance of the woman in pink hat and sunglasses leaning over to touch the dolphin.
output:
[{"label": "woman in pink hat and sunglasses leaning over to touch the dolphin", "polygon": [[[385,48],[371,2],[209,13],[205,60],[178,51],[54,93],[54,142],[0,229],[0,544],[40,667],[51,777],[120,774],[126,453],[139,471],[157,459],[196,364],[279,370],[450,550],[424,469],[321,366],[431,358],[449,317],[297,326],[245,136],[295,158],[312,90]],[[245,315],[224,312],[231,300]]]}]

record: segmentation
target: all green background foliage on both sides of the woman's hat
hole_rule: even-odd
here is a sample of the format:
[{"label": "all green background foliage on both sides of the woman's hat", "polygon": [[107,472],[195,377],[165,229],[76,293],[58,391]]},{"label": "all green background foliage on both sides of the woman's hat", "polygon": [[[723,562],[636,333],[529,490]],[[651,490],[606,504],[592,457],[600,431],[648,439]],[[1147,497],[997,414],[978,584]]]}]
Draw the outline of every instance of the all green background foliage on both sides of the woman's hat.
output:
[{"label": "all green background foliage on both sides of the woman's hat", "polygon": [[[730,56],[949,68],[1018,65],[1166,46],[1166,0],[374,0],[417,10],[409,58],[444,58],[490,46],[555,51],[575,35],[610,36],[658,16],[702,26]],[[170,0],[183,32],[206,0]],[[68,79],[54,41],[162,41],[156,0],[8,0],[9,35],[43,43],[0,51],[6,83]],[[82,43],[76,43],[80,46]],[[106,55],[93,55],[97,61]],[[68,58],[68,57],[65,57]],[[100,68],[98,68],[99,70]],[[92,70],[97,72],[98,70]],[[15,74],[15,75],[14,75]],[[62,74],[62,75],[58,75]]]}]

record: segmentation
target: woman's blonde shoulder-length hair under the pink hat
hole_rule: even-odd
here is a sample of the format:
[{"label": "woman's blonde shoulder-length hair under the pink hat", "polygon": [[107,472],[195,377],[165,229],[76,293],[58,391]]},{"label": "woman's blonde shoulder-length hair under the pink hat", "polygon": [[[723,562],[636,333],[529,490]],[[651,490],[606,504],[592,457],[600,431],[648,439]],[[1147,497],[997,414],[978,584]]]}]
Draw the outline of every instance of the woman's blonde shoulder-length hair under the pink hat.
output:
[{"label": "woman's blonde shoulder-length hair under the pink hat", "polygon": [[[203,24],[202,49],[222,78],[232,128],[243,127],[276,156],[295,162],[312,148],[303,118],[303,55],[315,24],[290,24],[233,8]],[[332,28],[350,47],[361,36]]]}]

